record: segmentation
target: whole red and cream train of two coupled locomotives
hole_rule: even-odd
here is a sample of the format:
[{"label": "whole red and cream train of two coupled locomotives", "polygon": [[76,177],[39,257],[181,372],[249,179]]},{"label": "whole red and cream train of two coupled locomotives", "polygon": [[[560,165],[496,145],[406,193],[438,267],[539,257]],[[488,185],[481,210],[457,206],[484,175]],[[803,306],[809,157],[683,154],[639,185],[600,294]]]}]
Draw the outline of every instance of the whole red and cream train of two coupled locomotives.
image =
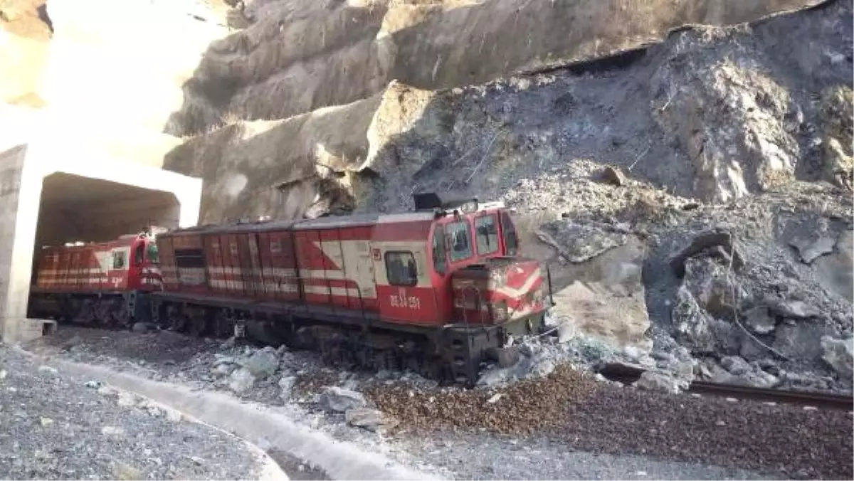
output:
[{"label": "whole red and cream train of two coupled locomotives", "polygon": [[313,349],[332,364],[474,385],[545,330],[551,276],[501,202],[415,194],[411,211],[260,220],[44,247],[31,317],[150,322]]}]

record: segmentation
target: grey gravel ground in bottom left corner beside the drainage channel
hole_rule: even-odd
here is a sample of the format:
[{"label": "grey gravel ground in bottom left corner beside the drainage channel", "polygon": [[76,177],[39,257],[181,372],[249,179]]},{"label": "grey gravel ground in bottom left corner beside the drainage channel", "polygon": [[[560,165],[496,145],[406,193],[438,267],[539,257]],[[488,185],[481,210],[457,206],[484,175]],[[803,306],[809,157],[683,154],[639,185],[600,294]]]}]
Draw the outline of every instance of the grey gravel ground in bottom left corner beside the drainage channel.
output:
[{"label": "grey gravel ground in bottom left corner beside the drainage channel", "polygon": [[0,426],[8,479],[259,479],[272,462],[237,437],[2,344]]}]

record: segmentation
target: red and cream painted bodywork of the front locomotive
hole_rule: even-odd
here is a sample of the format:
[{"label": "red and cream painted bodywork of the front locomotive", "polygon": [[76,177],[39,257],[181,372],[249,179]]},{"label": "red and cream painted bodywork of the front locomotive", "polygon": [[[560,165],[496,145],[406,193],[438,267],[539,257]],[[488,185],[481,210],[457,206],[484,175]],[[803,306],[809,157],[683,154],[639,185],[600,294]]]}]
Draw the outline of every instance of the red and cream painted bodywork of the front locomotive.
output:
[{"label": "red and cream painted bodywork of the front locomotive", "polygon": [[[518,249],[515,228],[497,203],[470,214],[426,211],[196,227],[161,234],[157,243],[169,294],[294,302],[416,326],[470,319],[495,324],[545,310],[539,264],[512,257]],[[501,283],[477,289],[484,308],[501,305],[502,313],[509,309],[512,315],[462,315],[453,301],[454,276],[464,276],[456,281],[463,282],[465,267],[506,256],[514,261],[500,267]]]}]

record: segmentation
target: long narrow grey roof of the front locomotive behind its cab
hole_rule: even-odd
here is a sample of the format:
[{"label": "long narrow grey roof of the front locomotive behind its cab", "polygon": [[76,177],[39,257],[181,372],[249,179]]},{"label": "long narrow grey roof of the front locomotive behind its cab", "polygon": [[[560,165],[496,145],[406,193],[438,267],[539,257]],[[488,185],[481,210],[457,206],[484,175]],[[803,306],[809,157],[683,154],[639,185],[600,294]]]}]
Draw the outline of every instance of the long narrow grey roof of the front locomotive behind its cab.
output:
[{"label": "long narrow grey roof of the front locomotive behind its cab", "polygon": [[227,232],[270,232],[293,229],[303,231],[309,229],[332,229],[341,227],[375,226],[389,222],[417,222],[433,220],[432,212],[407,212],[400,214],[352,214],[352,215],[330,215],[318,217],[317,219],[304,220],[262,220],[258,222],[246,222],[236,224],[208,224],[207,226],[193,226],[173,231],[174,234],[183,233],[227,233]]}]

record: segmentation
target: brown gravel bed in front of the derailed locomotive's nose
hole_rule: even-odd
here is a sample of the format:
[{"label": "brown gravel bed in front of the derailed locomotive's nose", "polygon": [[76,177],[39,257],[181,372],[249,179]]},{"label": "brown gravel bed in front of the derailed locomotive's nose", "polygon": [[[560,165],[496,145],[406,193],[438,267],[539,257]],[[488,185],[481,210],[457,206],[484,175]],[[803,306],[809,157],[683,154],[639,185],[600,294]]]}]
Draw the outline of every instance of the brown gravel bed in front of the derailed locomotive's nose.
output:
[{"label": "brown gravel bed in front of the derailed locomotive's nose", "polygon": [[854,413],[603,384],[569,367],[503,390],[369,390],[403,429],[538,436],[570,449],[854,478]]}]

